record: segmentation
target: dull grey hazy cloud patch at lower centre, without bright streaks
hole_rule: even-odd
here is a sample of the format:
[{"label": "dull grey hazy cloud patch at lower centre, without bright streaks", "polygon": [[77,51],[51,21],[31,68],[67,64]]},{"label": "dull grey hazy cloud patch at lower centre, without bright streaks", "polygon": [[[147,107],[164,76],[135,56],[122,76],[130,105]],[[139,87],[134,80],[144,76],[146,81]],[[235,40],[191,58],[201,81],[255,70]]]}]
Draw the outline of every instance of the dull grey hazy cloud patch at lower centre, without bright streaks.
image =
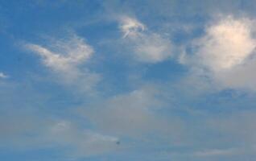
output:
[{"label": "dull grey hazy cloud patch at lower centre, without bright streaks", "polygon": [[[117,134],[139,134],[151,128],[150,107],[157,105],[151,93],[135,90],[107,100],[102,107],[85,114],[101,129]],[[86,113],[86,112],[85,112]],[[89,114],[89,115],[88,115]],[[150,123],[151,122],[151,123]]]}]

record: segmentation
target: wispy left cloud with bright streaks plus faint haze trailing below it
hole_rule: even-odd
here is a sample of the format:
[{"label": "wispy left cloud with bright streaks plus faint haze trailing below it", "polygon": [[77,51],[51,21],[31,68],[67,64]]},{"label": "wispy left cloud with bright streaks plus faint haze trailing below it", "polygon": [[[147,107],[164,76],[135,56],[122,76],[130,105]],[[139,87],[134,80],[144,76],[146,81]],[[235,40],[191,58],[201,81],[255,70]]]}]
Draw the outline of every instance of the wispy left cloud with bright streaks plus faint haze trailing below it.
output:
[{"label": "wispy left cloud with bright streaks plus faint haze trailing below it", "polygon": [[99,74],[90,72],[88,68],[81,68],[93,56],[94,51],[93,47],[77,35],[55,40],[52,44],[47,44],[47,47],[35,43],[28,43],[26,47],[38,54],[43,64],[68,85],[83,85],[82,89],[88,91],[100,80]]}]

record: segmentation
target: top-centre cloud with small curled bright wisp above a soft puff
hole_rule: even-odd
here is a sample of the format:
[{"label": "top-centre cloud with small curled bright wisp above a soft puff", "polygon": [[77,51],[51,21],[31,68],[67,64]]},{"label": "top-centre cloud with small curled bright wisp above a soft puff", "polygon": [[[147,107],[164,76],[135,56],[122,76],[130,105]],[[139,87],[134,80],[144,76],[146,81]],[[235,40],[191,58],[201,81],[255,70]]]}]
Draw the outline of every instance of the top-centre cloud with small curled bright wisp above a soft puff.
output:
[{"label": "top-centre cloud with small curled bright wisp above a soft puff", "polygon": [[137,19],[124,16],[120,19],[120,30],[134,52],[134,59],[145,63],[159,63],[171,55],[171,42],[161,35],[148,31]]}]

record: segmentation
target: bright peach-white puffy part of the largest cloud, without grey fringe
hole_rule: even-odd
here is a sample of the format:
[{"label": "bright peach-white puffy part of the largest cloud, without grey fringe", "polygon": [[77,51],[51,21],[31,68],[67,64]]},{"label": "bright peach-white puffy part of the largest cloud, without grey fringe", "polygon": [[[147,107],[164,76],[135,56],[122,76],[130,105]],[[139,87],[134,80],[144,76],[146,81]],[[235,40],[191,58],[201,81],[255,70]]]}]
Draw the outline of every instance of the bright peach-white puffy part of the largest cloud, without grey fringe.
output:
[{"label": "bright peach-white puffy part of the largest cloud, without grey fringe", "polygon": [[196,45],[200,63],[214,71],[243,64],[254,51],[256,41],[252,36],[249,19],[227,17],[206,28],[206,35]]}]

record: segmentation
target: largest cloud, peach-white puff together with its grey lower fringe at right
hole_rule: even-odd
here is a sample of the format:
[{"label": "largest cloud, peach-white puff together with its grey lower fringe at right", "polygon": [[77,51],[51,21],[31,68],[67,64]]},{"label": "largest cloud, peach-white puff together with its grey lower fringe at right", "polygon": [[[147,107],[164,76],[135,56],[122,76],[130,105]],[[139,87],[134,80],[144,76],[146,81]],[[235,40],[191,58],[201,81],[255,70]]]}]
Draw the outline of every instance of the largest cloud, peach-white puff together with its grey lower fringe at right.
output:
[{"label": "largest cloud, peach-white puff together with its grey lower fringe at right", "polygon": [[182,55],[181,60],[203,70],[205,76],[222,88],[256,89],[253,27],[252,19],[222,16],[192,43],[192,56]]}]

